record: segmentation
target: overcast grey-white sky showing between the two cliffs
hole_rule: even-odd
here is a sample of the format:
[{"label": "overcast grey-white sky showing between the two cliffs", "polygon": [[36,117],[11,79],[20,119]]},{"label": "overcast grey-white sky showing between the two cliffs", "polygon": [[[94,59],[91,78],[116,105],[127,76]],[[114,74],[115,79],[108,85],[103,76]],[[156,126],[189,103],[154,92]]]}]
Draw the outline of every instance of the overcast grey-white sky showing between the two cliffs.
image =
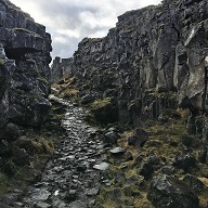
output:
[{"label": "overcast grey-white sky showing between the two cliffs", "polygon": [[43,24],[52,36],[52,56],[69,57],[84,37],[104,37],[126,11],[160,0],[10,0]]}]

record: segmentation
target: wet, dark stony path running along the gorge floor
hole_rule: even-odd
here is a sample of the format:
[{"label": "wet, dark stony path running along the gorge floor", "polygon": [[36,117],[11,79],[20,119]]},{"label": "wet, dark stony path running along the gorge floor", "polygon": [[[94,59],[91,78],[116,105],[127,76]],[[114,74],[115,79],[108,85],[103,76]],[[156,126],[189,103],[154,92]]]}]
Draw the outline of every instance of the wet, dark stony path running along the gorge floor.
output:
[{"label": "wet, dark stony path running along the gorge floor", "polygon": [[100,167],[93,166],[105,159],[102,141],[94,138],[96,130],[82,120],[81,107],[53,99],[67,106],[62,121],[66,135],[57,139],[53,159],[46,166],[40,182],[29,187],[21,207],[92,207],[100,191],[100,171],[94,169]]}]

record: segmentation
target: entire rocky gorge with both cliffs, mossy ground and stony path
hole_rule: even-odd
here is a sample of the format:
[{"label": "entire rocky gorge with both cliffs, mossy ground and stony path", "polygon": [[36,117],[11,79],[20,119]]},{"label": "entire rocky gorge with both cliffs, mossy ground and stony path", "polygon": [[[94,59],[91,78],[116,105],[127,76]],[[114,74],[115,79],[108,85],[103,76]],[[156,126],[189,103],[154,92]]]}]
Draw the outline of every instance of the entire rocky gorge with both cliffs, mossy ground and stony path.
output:
[{"label": "entire rocky gorge with both cliffs, mossy ground and stony path", "polygon": [[0,0],[0,206],[206,208],[207,11],[126,12],[50,69],[46,27]]}]

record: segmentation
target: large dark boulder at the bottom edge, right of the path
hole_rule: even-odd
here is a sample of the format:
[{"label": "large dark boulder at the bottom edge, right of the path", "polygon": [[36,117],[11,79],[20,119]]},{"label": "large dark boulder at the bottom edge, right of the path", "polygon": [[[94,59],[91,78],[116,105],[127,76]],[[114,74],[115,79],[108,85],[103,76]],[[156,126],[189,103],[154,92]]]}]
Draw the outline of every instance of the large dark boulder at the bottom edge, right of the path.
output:
[{"label": "large dark boulder at the bottom edge, right of the path", "polygon": [[160,176],[153,179],[147,194],[156,208],[198,208],[199,200],[192,188],[173,177]]}]

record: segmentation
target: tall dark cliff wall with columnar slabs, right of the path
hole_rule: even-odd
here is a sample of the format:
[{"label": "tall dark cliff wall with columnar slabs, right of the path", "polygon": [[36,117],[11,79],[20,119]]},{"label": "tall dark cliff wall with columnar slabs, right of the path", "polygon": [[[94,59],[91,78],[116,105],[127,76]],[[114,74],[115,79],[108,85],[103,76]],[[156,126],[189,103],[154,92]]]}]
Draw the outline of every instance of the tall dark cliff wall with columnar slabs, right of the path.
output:
[{"label": "tall dark cliff wall with columnar slabs, right of the path", "polygon": [[190,130],[207,134],[207,48],[208,2],[164,0],[118,16],[104,38],[84,38],[72,68],[80,96],[114,98],[120,122],[180,106],[190,109]]}]

